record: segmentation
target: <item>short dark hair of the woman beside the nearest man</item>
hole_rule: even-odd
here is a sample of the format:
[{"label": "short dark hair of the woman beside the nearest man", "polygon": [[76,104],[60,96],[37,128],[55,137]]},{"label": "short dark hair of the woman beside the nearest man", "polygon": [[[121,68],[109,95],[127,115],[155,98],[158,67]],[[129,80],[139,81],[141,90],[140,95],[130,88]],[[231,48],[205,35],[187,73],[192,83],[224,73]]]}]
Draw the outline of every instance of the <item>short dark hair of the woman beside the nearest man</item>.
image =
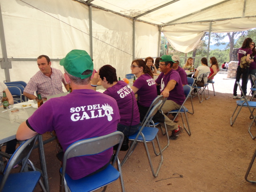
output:
[{"label": "short dark hair of the woman beside the nearest man", "polygon": [[99,76],[103,80],[105,77],[109,84],[117,82],[116,69],[111,65],[104,65],[100,68]]}]

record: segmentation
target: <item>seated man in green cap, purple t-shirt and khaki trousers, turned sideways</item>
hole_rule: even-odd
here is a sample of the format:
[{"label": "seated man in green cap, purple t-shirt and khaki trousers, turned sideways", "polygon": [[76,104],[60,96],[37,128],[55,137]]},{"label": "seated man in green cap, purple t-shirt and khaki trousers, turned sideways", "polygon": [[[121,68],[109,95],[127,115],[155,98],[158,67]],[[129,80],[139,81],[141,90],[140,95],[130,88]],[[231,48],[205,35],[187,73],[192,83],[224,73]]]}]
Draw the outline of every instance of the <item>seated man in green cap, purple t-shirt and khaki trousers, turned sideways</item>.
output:
[{"label": "seated man in green cap, purple t-shirt and khaki trousers, turned sideways", "polygon": [[[172,56],[170,55],[163,55],[159,62],[161,74],[156,79],[156,84],[160,85],[161,95],[163,95],[164,98],[167,97],[167,100],[162,107],[164,114],[171,110],[179,109],[185,100],[185,94],[180,75],[176,70],[172,69],[174,63],[175,61],[172,60]],[[166,115],[164,116],[167,129],[172,131],[170,139],[176,140],[178,135],[182,132],[182,127],[178,126]],[[161,125],[164,126],[164,123],[161,123]]]}]

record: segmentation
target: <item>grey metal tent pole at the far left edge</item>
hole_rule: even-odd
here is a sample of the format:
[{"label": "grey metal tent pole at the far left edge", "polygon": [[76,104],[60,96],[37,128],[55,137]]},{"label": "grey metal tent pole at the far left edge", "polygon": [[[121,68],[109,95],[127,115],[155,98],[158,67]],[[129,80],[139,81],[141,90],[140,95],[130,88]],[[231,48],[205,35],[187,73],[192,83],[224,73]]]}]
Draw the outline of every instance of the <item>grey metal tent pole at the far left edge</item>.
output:
[{"label": "grey metal tent pole at the far left edge", "polygon": [[0,4],[0,40],[1,40],[1,48],[2,48],[2,55],[3,59],[0,61],[1,69],[4,69],[5,74],[5,80],[7,82],[10,82],[10,72],[9,69],[12,68],[12,62],[8,61],[7,57],[7,50],[6,50],[6,43],[5,43],[5,37],[4,37],[4,24],[3,24],[3,18],[2,18],[2,10],[1,10],[1,4]]}]

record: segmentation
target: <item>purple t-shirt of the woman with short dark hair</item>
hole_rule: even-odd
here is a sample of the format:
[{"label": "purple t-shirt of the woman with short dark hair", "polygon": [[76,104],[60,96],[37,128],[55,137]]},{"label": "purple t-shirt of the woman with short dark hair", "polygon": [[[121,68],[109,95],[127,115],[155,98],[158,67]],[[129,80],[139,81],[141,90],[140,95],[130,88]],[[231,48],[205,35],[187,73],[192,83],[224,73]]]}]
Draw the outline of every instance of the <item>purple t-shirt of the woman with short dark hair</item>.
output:
[{"label": "purple t-shirt of the woman with short dark hair", "polygon": [[126,82],[118,81],[117,84],[104,91],[104,94],[107,94],[116,100],[120,112],[120,124],[130,126],[131,120],[132,125],[140,123],[140,113],[135,95]]}]

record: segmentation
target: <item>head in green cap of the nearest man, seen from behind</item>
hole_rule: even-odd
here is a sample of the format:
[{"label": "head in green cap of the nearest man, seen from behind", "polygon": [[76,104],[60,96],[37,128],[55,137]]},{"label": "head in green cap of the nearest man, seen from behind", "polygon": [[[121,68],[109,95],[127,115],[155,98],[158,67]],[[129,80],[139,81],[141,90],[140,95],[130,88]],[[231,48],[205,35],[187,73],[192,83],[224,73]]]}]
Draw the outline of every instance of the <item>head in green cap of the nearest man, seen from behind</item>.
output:
[{"label": "head in green cap of the nearest man, seen from behind", "polygon": [[84,50],[72,50],[60,60],[65,73],[76,84],[88,84],[93,72],[93,62]]}]

